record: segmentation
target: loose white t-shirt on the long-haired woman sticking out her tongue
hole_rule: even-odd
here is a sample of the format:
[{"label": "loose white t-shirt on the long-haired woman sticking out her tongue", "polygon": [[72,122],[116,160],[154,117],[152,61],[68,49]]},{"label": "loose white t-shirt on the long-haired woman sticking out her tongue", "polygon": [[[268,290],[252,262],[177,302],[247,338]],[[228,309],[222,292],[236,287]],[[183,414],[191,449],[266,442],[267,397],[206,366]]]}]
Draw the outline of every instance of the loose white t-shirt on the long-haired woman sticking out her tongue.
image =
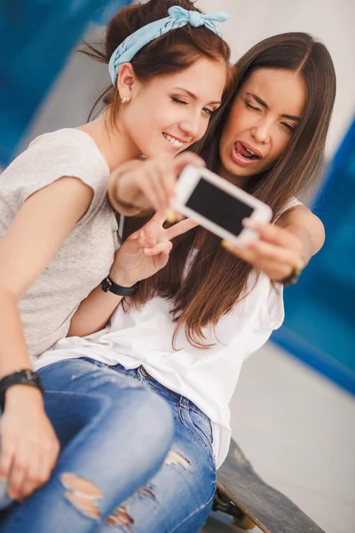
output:
[{"label": "loose white t-shirt on the long-haired woman sticking out her tongue", "polygon": [[[292,207],[298,202],[288,204]],[[254,287],[255,285],[255,287]],[[249,291],[252,287],[253,290]],[[44,353],[36,370],[62,359],[91,357],[126,369],[143,366],[153,378],[194,402],[210,418],[217,467],[228,453],[231,439],[230,410],[242,362],[264,345],[284,318],[282,288],[271,290],[270,279],[249,276],[246,298],[218,322],[215,332],[205,329],[209,349],[193,347],[171,320],[170,302],[156,297],[138,309],[115,311],[110,327],[86,338],[63,338]]]}]

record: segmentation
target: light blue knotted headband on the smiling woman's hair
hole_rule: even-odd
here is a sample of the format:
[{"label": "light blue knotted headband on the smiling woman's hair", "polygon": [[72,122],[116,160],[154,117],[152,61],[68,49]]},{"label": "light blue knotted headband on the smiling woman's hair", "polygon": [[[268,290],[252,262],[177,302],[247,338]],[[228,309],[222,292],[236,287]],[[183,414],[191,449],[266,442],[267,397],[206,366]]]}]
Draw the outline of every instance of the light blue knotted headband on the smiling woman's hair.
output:
[{"label": "light blue knotted headband on the smiling woman's hair", "polygon": [[124,39],[114,51],[108,63],[108,70],[115,85],[117,81],[117,73],[123,63],[128,63],[134,58],[137,52],[143,46],[154,41],[171,31],[172,29],[182,28],[186,24],[191,24],[194,28],[205,26],[213,31],[217,36],[222,37],[221,32],[213,22],[224,22],[229,18],[228,13],[209,13],[202,15],[200,12],[187,11],[179,5],[174,5],[168,10],[169,17],[165,19],[154,20],[150,24],[146,24],[143,28]]}]

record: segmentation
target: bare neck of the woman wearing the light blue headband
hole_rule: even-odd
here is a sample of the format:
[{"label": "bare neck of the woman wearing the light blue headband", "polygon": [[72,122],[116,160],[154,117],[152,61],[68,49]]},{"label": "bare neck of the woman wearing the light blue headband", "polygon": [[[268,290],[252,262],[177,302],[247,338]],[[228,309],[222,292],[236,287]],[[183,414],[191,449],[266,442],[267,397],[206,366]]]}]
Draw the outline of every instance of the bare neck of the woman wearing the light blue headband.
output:
[{"label": "bare neck of the woman wearing the light blue headband", "polygon": [[117,123],[115,128],[112,127],[107,112],[77,129],[84,131],[95,141],[110,172],[120,164],[142,155],[122,124]]}]

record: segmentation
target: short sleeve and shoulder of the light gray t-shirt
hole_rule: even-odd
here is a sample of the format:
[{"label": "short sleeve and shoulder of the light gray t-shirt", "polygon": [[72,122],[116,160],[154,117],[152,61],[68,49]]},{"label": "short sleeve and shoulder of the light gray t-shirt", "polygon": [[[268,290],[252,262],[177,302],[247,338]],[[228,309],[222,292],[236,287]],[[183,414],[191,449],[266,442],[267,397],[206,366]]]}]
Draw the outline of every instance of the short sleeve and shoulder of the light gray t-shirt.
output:
[{"label": "short sleeve and shoulder of the light gray t-shirt", "polygon": [[92,188],[92,211],[106,195],[108,179],[105,161],[95,150],[93,141],[80,131],[56,131],[38,137],[4,171],[4,199],[12,204],[12,210],[18,211],[30,195],[69,176]]}]

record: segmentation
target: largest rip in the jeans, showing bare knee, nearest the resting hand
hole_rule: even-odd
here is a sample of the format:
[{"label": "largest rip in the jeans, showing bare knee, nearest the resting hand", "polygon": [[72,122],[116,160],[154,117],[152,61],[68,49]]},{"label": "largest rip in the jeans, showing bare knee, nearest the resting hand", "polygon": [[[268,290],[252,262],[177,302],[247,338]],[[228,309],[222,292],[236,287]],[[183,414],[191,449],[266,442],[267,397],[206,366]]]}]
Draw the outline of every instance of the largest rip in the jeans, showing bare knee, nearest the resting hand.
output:
[{"label": "largest rip in the jeans, showing bare knee, nearest the resting hand", "polygon": [[67,500],[78,511],[90,518],[99,518],[99,501],[103,495],[96,485],[75,473],[62,473],[60,481],[66,489]]}]

